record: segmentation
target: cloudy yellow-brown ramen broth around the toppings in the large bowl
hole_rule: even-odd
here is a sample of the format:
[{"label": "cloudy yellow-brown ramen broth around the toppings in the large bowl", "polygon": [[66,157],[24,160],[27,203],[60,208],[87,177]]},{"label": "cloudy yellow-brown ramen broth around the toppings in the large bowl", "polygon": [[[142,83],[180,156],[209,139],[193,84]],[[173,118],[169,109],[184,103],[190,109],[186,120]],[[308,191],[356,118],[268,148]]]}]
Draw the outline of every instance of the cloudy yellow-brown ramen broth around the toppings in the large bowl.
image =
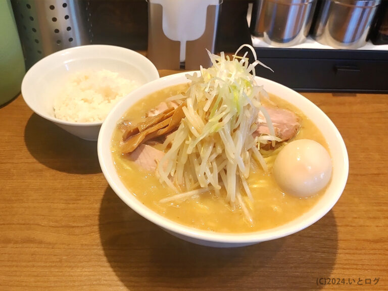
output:
[{"label": "cloudy yellow-brown ramen broth around the toppings in the large bowl", "polygon": [[[188,84],[180,84],[154,92],[133,105],[122,120],[138,123],[149,110],[155,108],[169,96],[184,92],[187,88]],[[279,108],[293,111],[300,117],[301,129],[294,139],[313,139],[329,152],[321,132],[300,110],[275,95],[270,94],[270,100]],[[219,197],[211,191],[184,201],[161,203],[161,199],[173,196],[176,192],[166,184],[162,184],[155,173],[143,170],[131,161],[128,155],[122,154],[121,140],[122,131],[120,126],[117,126],[112,137],[112,154],[117,173],[124,185],[143,205],[170,220],[187,226],[226,233],[253,232],[274,228],[307,212],[317,203],[320,194],[324,191],[309,198],[297,198],[283,193],[272,175],[272,165],[276,158],[275,151],[273,155],[265,158],[268,173],[265,173],[255,163],[251,168],[248,184],[254,201],[251,202],[245,196],[244,199],[246,205],[252,209],[250,212],[253,222],[248,221],[243,210],[225,201],[222,190]]]}]

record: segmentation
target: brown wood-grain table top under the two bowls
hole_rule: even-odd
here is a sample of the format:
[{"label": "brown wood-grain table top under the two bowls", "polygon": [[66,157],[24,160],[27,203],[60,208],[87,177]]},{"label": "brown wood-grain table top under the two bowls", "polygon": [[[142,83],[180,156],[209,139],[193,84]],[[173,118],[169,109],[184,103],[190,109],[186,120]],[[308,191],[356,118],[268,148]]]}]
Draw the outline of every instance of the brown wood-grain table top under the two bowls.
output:
[{"label": "brown wood-grain table top under the two bowls", "polygon": [[388,290],[388,94],[303,95],[346,142],[345,191],[305,230],[236,249],[187,243],[134,213],[96,142],[18,96],[0,108],[0,290]]}]

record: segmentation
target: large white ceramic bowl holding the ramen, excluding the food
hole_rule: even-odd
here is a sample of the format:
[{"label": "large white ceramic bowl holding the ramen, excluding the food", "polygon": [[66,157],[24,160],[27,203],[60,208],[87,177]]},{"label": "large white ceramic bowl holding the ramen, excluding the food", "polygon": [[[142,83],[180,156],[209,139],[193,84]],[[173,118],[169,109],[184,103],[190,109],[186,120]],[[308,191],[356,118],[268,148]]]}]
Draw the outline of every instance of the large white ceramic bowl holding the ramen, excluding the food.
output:
[{"label": "large white ceramic bowl holding the ramen, excluding the food", "polygon": [[295,233],[319,220],[334,206],[345,188],[349,161],[344,140],[331,120],[304,96],[276,82],[256,78],[268,92],[280,96],[300,108],[317,125],[326,138],[333,163],[332,179],[324,195],[310,211],[276,228],[251,233],[228,234],[199,230],[171,221],[148,209],[132,195],[130,189],[127,189],[121,182],[113,164],[110,150],[113,130],[121,116],[136,101],[156,90],[186,82],[185,73],[160,78],[133,91],[116,105],[104,121],[98,140],[98,154],[101,168],[112,189],[130,208],[171,234],[192,243],[212,247],[239,247],[260,243]]}]

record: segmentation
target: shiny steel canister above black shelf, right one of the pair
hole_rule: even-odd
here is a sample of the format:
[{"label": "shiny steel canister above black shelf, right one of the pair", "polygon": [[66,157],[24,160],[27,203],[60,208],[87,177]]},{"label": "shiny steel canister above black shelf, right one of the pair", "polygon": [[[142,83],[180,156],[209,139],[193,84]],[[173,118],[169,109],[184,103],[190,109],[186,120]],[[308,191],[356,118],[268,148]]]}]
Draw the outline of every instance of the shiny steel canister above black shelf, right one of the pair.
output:
[{"label": "shiny steel canister above black shelf, right one of the pair", "polygon": [[325,0],[312,36],[335,49],[358,49],[366,44],[380,0]]}]

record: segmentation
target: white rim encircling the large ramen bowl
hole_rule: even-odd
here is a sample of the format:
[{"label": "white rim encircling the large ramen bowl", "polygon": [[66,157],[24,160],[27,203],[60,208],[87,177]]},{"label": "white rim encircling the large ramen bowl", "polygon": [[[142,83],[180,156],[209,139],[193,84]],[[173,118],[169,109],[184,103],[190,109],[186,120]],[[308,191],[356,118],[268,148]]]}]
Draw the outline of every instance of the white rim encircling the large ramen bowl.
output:
[{"label": "white rim encircling the large ramen bowl", "polygon": [[[162,88],[174,85],[174,84],[179,84],[183,83],[183,76],[186,74],[193,74],[195,72],[199,71],[189,71],[189,72],[182,72],[182,73],[177,73],[177,74],[172,74],[166,77],[162,77],[158,80],[151,81],[141,88],[138,88],[134,91],[132,91],[130,94],[128,94],[125,98],[120,100],[119,103],[116,104],[116,106],[112,109],[112,111],[108,114],[107,118],[102,124],[99,138],[98,138],[98,157],[99,157],[99,162],[101,169],[103,171],[104,176],[106,177],[109,185],[112,187],[116,195],[125,203],[127,204],[133,211],[141,215],[142,217],[148,219],[149,221],[155,223],[156,225],[160,226],[161,228],[167,229],[168,231],[172,231],[173,233],[176,233],[178,235],[183,235],[186,237],[190,237],[193,239],[198,239],[198,240],[203,240],[203,241],[208,241],[211,243],[221,243],[221,244],[230,244],[230,245],[240,245],[240,244],[254,244],[254,243],[259,243],[261,241],[267,241],[267,240],[272,240],[280,237],[284,237],[293,233],[296,233],[300,230],[303,230],[304,228],[314,224],[316,221],[321,219],[324,215],[326,215],[332,207],[335,205],[335,203],[340,199],[342,192],[345,189],[346,182],[348,179],[348,174],[349,174],[349,158],[348,158],[348,153],[347,149],[345,146],[345,142],[338,131],[338,129],[335,127],[333,122],[329,119],[329,117],[318,107],[316,106],[313,102],[308,100],[305,96],[301,95],[300,93],[296,92],[293,89],[290,89],[282,84],[279,84],[277,82],[274,82],[272,80],[268,80],[262,77],[256,76],[256,80],[261,80],[268,82],[269,84],[275,85],[275,86],[280,86],[282,89],[286,89],[287,91],[293,91],[294,94],[298,94],[299,98],[304,99],[304,102],[308,103],[309,106],[314,107],[315,110],[319,111],[320,114],[322,115],[322,118],[325,119],[325,122],[327,122],[327,125],[331,127],[331,130],[333,130],[333,134],[337,138],[338,145],[340,146],[341,149],[341,156],[343,158],[343,170],[338,174],[341,178],[340,184],[336,187],[336,192],[333,193],[329,199],[329,203],[324,209],[319,209],[317,213],[314,213],[313,215],[310,215],[308,220],[304,223],[298,223],[298,224],[293,224],[292,222],[296,219],[298,219],[301,216],[304,216],[305,214],[302,214],[301,216],[297,217],[296,219],[289,221],[279,227],[275,228],[270,228],[266,230],[260,230],[260,231],[254,231],[254,232],[243,232],[243,233],[224,233],[224,232],[213,232],[213,231],[207,231],[207,230],[202,230],[202,229],[197,229],[194,227],[186,226],[183,224],[180,224],[176,221],[170,220],[166,217],[163,217],[162,215],[154,212],[153,210],[147,208],[146,206],[142,205],[141,202],[135,198],[135,196],[131,193],[131,191],[127,188],[126,192],[123,192],[119,181],[119,184],[117,184],[114,181],[114,177],[112,176],[112,173],[108,170],[108,162],[109,160],[112,159],[111,152],[106,151],[105,147],[106,145],[104,143],[112,140],[112,134],[113,134],[113,129],[114,128],[109,128],[112,127],[112,124],[117,124],[119,119],[122,117],[122,114],[117,115],[116,111],[118,111],[120,108],[124,112],[126,112],[130,106],[132,106],[135,102],[141,100],[141,98],[144,98],[148,94],[155,92],[157,90],[160,90]],[[176,80],[182,80],[181,82],[174,82]],[[174,82],[174,83],[171,83]],[[168,83],[168,85],[163,85],[165,83]],[[155,87],[154,89],[151,89]],[[140,94],[139,97],[136,97],[136,94]],[[132,103],[126,107],[126,109],[123,109],[122,104],[129,102],[128,100],[130,98],[133,98],[135,101],[131,101]],[[110,134],[107,136],[107,134]],[[108,146],[108,150],[110,149],[110,144]],[[107,155],[110,155],[110,158],[107,157]],[[108,159],[107,159],[108,158]],[[114,171],[113,175],[117,175],[117,173]],[[129,193],[129,195],[128,195]],[[316,203],[318,204],[319,201]],[[314,207],[314,206],[313,206]],[[308,213],[309,211],[307,211]],[[284,226],[288,227],[285,228]],[[277,229],[279,228],[279,229]]]}]

